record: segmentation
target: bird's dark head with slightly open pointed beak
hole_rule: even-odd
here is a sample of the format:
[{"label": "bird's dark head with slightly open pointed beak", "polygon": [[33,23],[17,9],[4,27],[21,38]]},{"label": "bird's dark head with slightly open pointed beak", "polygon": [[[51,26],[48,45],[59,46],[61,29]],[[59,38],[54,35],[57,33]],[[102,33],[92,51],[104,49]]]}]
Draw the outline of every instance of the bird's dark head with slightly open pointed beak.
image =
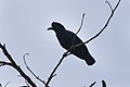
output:
[{"label": "bird's dark head with slightly open pointed beak", "polygon": [[57,23],[57,22],[53,22],[51,24],[51,27],[48,28],[48,30],[54,30],[54,32],[62,32],[64,29],[65,27],[61,23]]}]

